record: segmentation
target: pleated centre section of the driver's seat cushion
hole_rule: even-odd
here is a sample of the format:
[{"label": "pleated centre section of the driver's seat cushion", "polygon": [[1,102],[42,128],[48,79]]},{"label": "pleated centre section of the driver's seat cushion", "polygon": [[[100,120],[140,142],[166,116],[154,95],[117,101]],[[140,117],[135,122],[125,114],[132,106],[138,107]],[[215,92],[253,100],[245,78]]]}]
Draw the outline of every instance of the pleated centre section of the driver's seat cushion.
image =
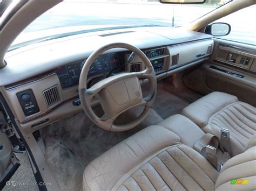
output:
[{"label": "pleated centre section of the driver's seat cushion", "polygon": [[214,190],[217,177],[207,160],[180,144],[147,161],[117,190]]}]

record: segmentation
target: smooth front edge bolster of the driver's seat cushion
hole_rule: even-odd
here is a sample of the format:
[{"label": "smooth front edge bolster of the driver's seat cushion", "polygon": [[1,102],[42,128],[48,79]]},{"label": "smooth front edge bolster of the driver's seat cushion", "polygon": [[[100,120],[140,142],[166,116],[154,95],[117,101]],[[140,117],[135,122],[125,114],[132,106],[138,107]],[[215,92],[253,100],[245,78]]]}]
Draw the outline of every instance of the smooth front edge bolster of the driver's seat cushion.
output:
[{"label": "smooth front edge bolster of the driver's seat cushion", "polygon": [[175,133],[152,125],[110,148],[86,166],[83,185],[90,190],[111,190],[120,177],[162,148],[180,143]]}]

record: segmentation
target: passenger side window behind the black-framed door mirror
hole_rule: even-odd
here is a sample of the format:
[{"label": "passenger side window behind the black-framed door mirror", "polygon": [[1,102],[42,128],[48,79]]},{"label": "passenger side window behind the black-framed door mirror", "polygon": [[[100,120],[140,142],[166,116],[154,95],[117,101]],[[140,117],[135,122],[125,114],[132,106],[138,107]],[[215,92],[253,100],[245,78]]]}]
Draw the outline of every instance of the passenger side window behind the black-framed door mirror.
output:
[{"label": "passenger side window behind the black-framed door mirror", "polygon": [[217,38],[256,45],[255,18],[256,5],[252,5],[216,20],[214,23],[223,22],[231,25],[231,31],[227,36]]}]

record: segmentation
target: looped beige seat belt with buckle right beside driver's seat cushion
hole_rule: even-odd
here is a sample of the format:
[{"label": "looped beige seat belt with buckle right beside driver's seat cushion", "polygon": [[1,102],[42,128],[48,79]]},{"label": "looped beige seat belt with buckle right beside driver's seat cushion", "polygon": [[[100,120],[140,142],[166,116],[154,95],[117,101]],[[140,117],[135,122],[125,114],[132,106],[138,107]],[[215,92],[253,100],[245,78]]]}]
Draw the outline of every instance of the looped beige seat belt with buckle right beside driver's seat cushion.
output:
[{"label": "looped beige seat belt with buckle right beside driver's seat cushion", "polygon": [[194,144],[193,148],[203,155],[217,171],[220,171],[223,164],[230,159],[230,155],[227,152],[223,153],[218,150],[218,146],[218,137],[211,133],[206,133]]}]

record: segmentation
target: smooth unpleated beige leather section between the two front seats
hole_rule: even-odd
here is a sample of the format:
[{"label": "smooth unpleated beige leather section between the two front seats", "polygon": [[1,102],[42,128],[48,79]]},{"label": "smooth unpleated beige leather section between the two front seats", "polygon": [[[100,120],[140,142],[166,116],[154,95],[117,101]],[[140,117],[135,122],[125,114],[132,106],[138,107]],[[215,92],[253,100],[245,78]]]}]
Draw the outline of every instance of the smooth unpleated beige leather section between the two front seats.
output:
[{"label": "smooth unpleated beige leather section between the two front seats", "polygon": [[181,143],[190,147],[193,147],[205,135],[204,131],[195,123],[179,114],[166,118],[158,125],[176,133],[180,137]]}]

